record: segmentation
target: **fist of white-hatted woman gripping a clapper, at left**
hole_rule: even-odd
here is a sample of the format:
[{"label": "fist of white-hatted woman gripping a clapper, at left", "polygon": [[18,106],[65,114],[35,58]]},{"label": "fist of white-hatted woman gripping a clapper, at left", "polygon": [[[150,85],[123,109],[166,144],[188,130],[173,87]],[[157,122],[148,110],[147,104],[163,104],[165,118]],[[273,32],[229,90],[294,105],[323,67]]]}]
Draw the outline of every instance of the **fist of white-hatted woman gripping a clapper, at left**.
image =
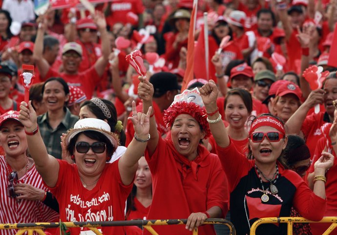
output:
[{"label": "fist of white-hatted woman gripping a clapper, at left", "polygon": [[36,130],[38,126],[37,117],[31,100],[29,100],[28,104],[24,101],[21,102],[19,120],[27,132]]}]

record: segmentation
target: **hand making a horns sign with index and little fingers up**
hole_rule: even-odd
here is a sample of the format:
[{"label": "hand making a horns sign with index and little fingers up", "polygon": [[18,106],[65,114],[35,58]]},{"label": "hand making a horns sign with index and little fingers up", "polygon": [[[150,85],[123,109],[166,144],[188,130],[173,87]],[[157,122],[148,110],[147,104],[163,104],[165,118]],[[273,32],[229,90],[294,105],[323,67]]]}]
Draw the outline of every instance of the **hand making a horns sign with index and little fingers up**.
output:
[{"label": "hand making a horns sign with index and little fingers up", "polygon": [[138,112],[136,110],[136,102],[132,101],[132,117],[128,117],[128,120],[132,121],[133,128],[137,137],[141,139],[147,139],[150,130],[150,114],[152,107],[149,107],[147,114]]}]

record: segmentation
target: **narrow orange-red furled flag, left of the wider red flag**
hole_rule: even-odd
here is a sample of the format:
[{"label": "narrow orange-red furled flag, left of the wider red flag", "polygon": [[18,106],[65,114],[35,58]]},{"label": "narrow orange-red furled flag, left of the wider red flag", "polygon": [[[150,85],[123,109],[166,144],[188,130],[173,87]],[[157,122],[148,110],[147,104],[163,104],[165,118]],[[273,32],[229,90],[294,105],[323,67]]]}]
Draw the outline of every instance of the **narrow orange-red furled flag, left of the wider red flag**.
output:
[{"label": "narrow orange-red furled flag, left of the wider red flag", "polygon": [[193,9],[192,14],[190,18],[190,28],[189,28],[189,41],[187,44],[187,58],[186,58],[186,70],[185,70],[185,76],[183,79],[181,90],[184,91],[187,88],[187,84],[189,84],[189,81],[194,78],[193,74],[193,64],[194,64],[194,20],[195,20],[195,14],[196,14],[196,0],[193,2]]}]

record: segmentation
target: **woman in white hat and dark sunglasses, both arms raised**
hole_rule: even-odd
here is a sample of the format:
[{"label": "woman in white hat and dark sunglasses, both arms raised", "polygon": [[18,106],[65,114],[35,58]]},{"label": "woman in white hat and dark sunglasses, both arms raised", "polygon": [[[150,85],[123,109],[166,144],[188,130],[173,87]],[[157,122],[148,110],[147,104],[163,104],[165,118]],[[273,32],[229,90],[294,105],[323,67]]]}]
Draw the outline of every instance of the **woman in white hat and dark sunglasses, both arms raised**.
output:
[{"label": "woman in white hat and dark sunglasses, both arms raised", "polygon": [[[48,155],[36,124],[36,114],[30,102],[21,103],[20,120],[24,125],[28,148],[36,169],[60,204],[63,221],[124,220],[125,201],[129,195],[149,139],[149,109],[147,115],[136,112],[129,117],[135,129],[134,139],[125,154],[106,164],[118,146],[118,137],[110,132],[103,120],[85,118],[75,123],[63,141],[76,164]],[[71,179],[71,180],[69,180]],[[86,228],[70,229],[80,234]],[[103,234],[125,234],[123,227],[104,227]]]}]

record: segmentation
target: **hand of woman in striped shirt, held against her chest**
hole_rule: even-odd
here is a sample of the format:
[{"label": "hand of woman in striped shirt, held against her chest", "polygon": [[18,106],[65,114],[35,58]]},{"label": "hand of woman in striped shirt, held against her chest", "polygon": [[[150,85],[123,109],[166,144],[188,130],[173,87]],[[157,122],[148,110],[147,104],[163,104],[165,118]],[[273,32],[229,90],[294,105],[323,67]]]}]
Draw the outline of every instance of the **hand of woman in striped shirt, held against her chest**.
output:
[{"label": "hand of woman in striped shirt, held against her chest", "polygon": [[16,199],[26,199],[30,201],[42,201],[44,198],[44,190],[35,188],[30,184],[16,184],[14,185],[15,194],[19,194]]}]

